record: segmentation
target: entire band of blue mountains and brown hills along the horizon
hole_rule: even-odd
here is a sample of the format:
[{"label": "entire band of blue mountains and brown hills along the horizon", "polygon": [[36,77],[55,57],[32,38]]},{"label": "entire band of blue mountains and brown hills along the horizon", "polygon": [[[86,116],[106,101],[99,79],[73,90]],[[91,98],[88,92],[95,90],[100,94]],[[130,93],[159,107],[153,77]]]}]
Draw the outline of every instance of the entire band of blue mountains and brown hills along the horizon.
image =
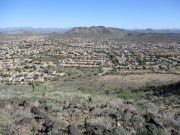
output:
[{"label": "entire band of blue mountains and brown hills along the horizon", "polygon": [[[86,38],[86,39],[120,39],[120,40],[155,40],[180,42],[179,29],[135,29],[125,30],[113,27],[91,26],[74,28],[0,28],[0,35],[43,35],[51,39]],[[31,34],[31,35],[32,35]]]}]

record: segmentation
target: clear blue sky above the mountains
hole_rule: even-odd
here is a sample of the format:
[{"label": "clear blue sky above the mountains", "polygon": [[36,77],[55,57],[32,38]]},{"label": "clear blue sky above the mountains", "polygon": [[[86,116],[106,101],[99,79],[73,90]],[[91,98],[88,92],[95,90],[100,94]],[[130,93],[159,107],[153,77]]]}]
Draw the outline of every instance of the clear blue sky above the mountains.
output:
[{"label": "clear blue sky above the mountains", "polygon": [[0,0],[0,28],[180,28],[180,0]]}]

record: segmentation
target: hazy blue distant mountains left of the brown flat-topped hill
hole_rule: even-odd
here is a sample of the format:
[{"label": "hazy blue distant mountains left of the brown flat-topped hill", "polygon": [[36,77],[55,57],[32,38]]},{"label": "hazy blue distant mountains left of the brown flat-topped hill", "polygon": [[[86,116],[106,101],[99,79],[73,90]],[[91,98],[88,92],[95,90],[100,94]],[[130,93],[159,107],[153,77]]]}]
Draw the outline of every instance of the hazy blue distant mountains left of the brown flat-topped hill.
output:
[{"label": "hazy blue distant mountains left of the brown flat-topped hill", "polygon": [[26,32],[32,33],[63,33],[68,31],[70,28],[32,28],[32,27],[12,27],[12,28],[0,28],[0,32],[6,34],[22,34]]}]

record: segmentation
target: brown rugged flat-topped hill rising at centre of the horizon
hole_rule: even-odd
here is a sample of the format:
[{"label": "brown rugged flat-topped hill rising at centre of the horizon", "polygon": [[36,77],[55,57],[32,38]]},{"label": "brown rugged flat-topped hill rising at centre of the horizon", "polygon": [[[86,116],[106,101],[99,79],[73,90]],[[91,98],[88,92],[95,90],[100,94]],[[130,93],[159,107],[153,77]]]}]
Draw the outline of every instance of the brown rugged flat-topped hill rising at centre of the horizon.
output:
[{"label": "brown rugged flat-topped hill rising at centre of the horizon", "polygon": [[124,29],[92,26],[92,27],[75,27],[64,33],[65,37],[71,38],[120,38],[129,32]]}]

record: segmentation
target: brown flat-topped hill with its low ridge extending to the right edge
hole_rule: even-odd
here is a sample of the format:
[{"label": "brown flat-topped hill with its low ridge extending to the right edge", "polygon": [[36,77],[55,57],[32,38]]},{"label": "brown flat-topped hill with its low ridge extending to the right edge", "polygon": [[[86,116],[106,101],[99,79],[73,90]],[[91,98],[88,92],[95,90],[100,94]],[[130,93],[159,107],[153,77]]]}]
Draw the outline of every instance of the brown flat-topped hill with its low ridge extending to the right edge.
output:
[{"label": "brown flat-topped hill with its low ridge extending to the right edge", "polygon": [[143,41],[177,41],[180,42],[180,33],[155,32],[147,30],[124,30],[119,28],[92,26],[74,27],[65,33],[50,33],[52,39],[116,39],[116,40],[143,40]]}]

